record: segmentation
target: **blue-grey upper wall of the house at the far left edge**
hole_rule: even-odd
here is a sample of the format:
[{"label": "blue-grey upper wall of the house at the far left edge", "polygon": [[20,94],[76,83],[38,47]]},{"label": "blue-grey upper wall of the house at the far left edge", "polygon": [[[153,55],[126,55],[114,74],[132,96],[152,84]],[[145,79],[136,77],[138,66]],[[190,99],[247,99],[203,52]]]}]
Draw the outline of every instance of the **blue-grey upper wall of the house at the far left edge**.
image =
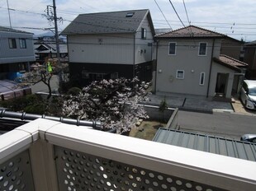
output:
[{"label": "blue-grey upper wall of the house at the far left edge", "polygon": [[[9,48],[8,39],[16,39],[17,49]],[[20,48],[19,39],[26,40],[26,49]],[[0,32],[0,64],[35,61],[33,35],[27,33]]]}]

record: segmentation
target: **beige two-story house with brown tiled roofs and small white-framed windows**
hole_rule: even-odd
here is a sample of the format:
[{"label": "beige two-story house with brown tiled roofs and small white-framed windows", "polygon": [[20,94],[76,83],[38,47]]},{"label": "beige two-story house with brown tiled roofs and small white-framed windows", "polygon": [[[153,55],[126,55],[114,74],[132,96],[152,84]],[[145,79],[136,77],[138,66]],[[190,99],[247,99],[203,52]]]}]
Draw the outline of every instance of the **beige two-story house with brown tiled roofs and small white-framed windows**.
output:
[{"label": "beige two-story house with brown tiled roofs and small white-framed windows", "polygon": [[197,26],[157,35],[154,91],[230,100],[247,64],[220,54],[225,37]]}]

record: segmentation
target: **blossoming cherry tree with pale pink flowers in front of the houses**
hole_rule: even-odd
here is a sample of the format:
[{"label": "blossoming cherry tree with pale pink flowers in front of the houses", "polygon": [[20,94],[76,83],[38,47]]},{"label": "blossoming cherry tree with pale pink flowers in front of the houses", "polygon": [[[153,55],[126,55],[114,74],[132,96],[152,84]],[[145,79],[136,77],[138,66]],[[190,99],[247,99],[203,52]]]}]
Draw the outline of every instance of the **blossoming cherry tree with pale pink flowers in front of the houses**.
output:
[{"label": "blossoming cherry tree with pale pink flowers in front of the houses", "polygon": [[146,91],[137,78],[102,80],[84,87],[78,95],[64,98],[63,113],[72,118],[99,120],[102,128],[124,133],[135,128],[138,119],[147,119]]}]

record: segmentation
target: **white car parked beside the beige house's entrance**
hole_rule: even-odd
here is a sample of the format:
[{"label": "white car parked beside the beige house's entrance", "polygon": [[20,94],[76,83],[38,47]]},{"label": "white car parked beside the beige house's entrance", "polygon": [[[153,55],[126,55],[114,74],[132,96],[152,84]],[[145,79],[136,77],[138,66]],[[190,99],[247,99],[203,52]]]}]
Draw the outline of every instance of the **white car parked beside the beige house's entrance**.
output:
[{"label": "white car parked beside the beige house's entrance", "polygon": [[240,100],[248,109],[256,109],[256,81],[244,80]]}]

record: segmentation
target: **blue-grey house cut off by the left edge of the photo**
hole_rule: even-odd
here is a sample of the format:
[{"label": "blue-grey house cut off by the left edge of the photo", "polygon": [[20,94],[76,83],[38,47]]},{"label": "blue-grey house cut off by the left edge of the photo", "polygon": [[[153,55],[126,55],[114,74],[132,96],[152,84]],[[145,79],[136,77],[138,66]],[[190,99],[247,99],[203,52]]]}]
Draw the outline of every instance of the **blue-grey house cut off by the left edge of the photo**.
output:
[{"label": "blue-grey house cut off by the left edge of the photo", "polygon": [[33,34],[0,26],[0,79],[28,70],[35,61]]}]

